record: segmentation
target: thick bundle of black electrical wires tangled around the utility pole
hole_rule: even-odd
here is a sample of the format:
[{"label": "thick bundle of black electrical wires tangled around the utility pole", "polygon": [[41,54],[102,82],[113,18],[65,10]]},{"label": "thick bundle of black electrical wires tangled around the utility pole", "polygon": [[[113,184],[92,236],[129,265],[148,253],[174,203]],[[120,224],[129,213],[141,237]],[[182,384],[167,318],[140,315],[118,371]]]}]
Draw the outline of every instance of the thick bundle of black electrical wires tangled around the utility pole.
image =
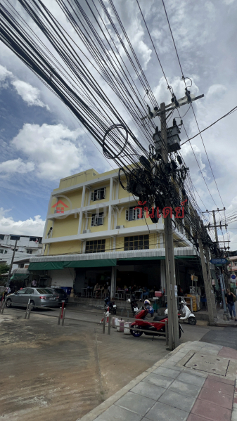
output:
[{"label": "thick bundle of black electrical wires tangled around the utility pole", "polygon": [[[143,207],[147,207],[153,222],[158,221],[167,203],[174,213],[186,201],[184,219],[172,220],[174,228],[185,232],[197,248],[200,235],[203,244],[213,249],[211,233],[201,223],[184,160],[171,152],[168,162],[164,162],[155,151],[155,124],[151,120],[145,125],[141,122],[147,114],[141,91],[155,110],[159,110],[159,105],[113,1],[108,0],[113,16],[103,0],[85,0],[87,11],[78,0],[56,2],[81,44],[76,43],[75,37],[72,39],[41,0],[18,0],[21,9],[14,8],[10,0],[2,0],[1,41],[95,138],[106,159],[113,160],[119,168],[122,188],[146,202]],[[34,25],[25,20],[25,13],[20,10],[30,16]],[[96,75],[107,90],[98,84]],[[113,96],[129,114],[132,129],[117,110]]]}]

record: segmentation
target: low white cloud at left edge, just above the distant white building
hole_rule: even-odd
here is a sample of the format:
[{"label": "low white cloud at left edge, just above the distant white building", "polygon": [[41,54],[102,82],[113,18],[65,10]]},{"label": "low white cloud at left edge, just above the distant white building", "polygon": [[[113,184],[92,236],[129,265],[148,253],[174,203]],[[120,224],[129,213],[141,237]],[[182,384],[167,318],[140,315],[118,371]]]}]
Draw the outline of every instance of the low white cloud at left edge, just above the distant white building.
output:
[{"label": "low white cloud at left edge, just above the distant white building", "polygon": [[18,235],[43,235],[45,221],[40,215],[29,218],[25,221],[14,221],[12,216],[5,216],[11,209],[0,207],[0,233],[14,233]]}]

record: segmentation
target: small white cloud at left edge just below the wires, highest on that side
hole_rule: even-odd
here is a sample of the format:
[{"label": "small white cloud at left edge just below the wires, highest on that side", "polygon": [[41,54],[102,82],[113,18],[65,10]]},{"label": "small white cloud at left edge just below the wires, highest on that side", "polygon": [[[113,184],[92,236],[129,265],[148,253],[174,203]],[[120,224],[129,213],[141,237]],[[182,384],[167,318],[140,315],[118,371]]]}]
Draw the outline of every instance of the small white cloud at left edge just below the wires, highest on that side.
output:
[{"label": "small white cloud at left edge just below the wires, highest on that side", "polygon": [[8,87],[8,79],[9,82],[14,86],[18,95],[23,98],[23,101],[25,101],[27,105],[46,107],[46,109],[49,110],[49,105],[46,105],[40,101],[40,91],[38,88],[35,88],[23,80],[16,79],[12,72],[8,72],[6,67],[0,65],[0,88]]}]

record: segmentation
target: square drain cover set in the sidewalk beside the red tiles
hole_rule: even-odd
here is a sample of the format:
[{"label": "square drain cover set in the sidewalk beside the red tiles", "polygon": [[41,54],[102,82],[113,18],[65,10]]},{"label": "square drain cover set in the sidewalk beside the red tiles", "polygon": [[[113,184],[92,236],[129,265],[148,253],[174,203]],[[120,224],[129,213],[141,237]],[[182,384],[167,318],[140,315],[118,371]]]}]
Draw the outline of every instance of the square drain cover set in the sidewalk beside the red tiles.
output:
[{"label": "square drain cover set in the sidewalk beside the red tiles", "polygon": [[225,376],[229,361],[227,358],[221,356],[194,354],[185,366],[193,368],[193,370]]}]

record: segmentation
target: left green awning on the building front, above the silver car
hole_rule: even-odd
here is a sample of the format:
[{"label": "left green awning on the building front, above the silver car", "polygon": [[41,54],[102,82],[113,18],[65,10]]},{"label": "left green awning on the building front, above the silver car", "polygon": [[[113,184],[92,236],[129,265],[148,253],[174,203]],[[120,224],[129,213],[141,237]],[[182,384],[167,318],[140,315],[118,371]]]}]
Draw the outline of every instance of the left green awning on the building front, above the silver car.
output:
[{"label": "left green awning on the building front, above the silver car", "polygon": [[101,268],[103,266],[116,266],[117,259],[94,259],[75,261],[37,261],[30,263],[29,271],[53,271],[64,268]]}]

